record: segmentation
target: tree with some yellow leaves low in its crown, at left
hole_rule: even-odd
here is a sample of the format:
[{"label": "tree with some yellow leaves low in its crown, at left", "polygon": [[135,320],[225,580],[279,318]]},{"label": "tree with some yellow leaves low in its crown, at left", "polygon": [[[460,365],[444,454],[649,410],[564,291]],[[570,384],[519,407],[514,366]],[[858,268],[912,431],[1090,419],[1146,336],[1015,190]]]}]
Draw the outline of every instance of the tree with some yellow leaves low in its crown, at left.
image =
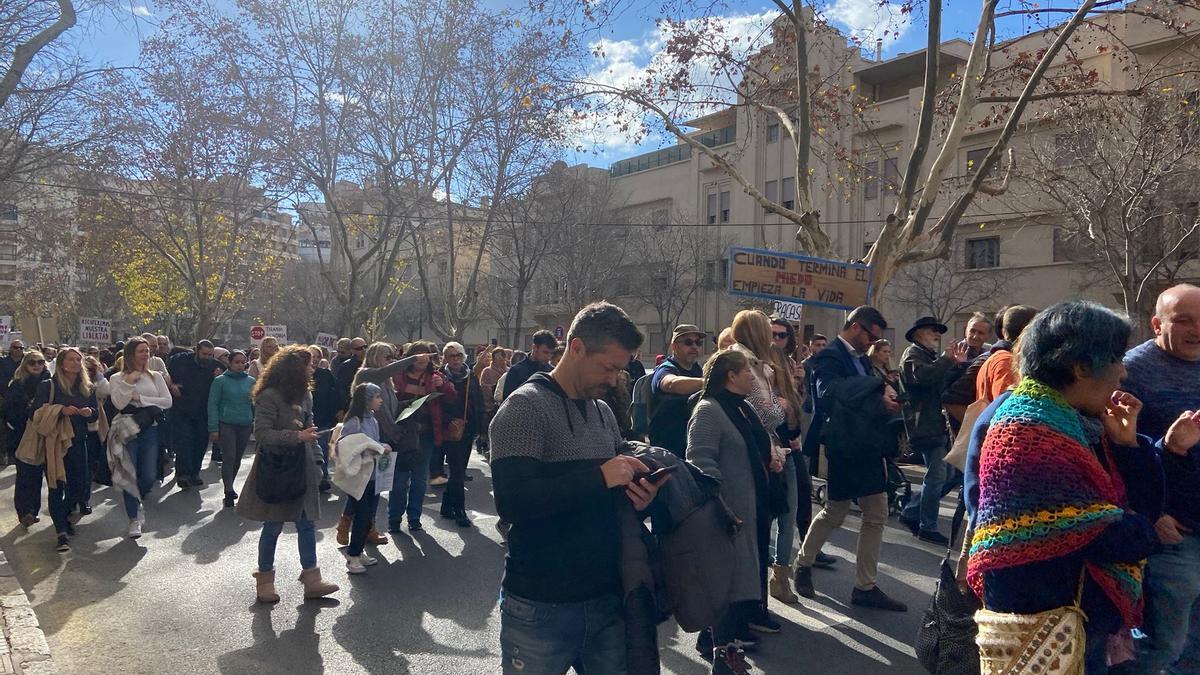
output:
[{"label": "tree with some yellow leaves low in its crown, at left", "polygon": [[290,234],[272,220],[276,199],[254,185],[266,171],[265,120],[227,77],[221,52],[185,29],[167,22],[145,43],[139,74],[106,78],[95,220],[124,231],[131,257],[151,262],[140,274],[182,289],[186,336],[199,340],[241,309],[253,282],[277,273]]}]

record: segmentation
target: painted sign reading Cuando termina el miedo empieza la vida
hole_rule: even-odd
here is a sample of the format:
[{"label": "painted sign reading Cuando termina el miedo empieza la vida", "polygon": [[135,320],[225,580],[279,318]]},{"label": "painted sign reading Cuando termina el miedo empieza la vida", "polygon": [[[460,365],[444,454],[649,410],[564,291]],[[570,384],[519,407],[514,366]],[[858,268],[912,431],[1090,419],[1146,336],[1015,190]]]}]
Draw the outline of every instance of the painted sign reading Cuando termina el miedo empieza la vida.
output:
[{"label": "painted sign reading Cuando termina el miedo empieza la vida", "polygon": [[796,253],[731,246],[730,293],[852,310],[871,299],[871,268]]}]

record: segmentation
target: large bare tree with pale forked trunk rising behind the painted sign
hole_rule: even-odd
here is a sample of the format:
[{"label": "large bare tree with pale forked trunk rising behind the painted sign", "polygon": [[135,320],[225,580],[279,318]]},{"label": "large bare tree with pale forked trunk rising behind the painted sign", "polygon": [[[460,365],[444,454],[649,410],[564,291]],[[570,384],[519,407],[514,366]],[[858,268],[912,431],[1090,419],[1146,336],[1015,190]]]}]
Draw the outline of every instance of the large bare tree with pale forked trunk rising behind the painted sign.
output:
[{"label": "large bare tree with pale forked trunk rising behind the painted sign", "polygon": [[[773,5],[780,14],[769,28],[743,35],[730,30],[718,17],[731,8],[727,2],[684,0],[668,4],[656,18],[660,26],[668,29],[664,54],[646,68],[641,79],[612,83],[576,78],[571,84],[578,88],[578,95],[592,97],[586,104],[588,112],[599,108],[608,115],[616,109],[620,127],[632,136],[644,136],[650,124],[674,136],[690,151],[704,156],[731,177],[760,207],[792,221],[798,228],[798,250],[828,257],[833,255],[832,240],[816,210],[814,181],[820,178],[820,166],[812,157],[824,145],[824,166],[852,160],[846,155],[846,144],[833,132],[846,130],[851,120],[866,117],[866,106],[862,104],[865,100],[854,94],[854,84],[848,77],[856,55],[852,49],[836,52],[838,42],[844,38],[822,20],[816,4],[773,0]],[[1188,25],[1176,18],[1176,12],[1190,6],[1184,0],[1163,0],[1128,8],[1118,6],[1123,5],[1118,0],[1081,0],[1069,7],[1052,8],[1021,2],[997,12],[997,0],[983,0],[970,53],[954,78],[955,95],[949,104],[938,106],[947,76],[940,49],[943,5],[942,0],[926,5],[925,77],[918,124],[908,160],[900,167],[902,178],[895,208],[866,257],[878,291],[886,288],[906,264],[949,256],[958,225],[977,197],[1002,195],[1008,189],[1013,160],[1007,162],[1000,178],[992,169],[1009,150],[1013,136],[1033,103],[1087,92],[1136,96],[1146,90],[1146,80],[1135,82],[1130,88],[1097,85],[1100,78],[1081,56],[1088,50],[1094,54],[1097,49],[1128,52],[1120,38],[1111,38],[1112,24],[1121,20],[1122,12],[1133,12],[1146,18],[1147,25],[1175,36]],[[578,40],[595,36],[598,26],[624,16],[631,4],[628,0],[604,4],[544,0],[534,6],[554,16],[582,14],[583,29],[572,24],[565,32],[566,38]],[[908,4],[902,7],[906,13],[911,10]],[[994,52],[997,19],[1018,16],[1067,18],[1030,44],[1013,47],[1012,53],[1001,50],[997,55]],[[1081,30],[1085,25],[1088,29]],[[596,50],[604,49],[602,42],[596,44]],[[832,67],[818,71],[810,66],[818,49],[830,52],[824,60]],[[994,55],[997,56],[995,67]],[[600,96],[599,102],[590,102],[595,96]],[[697,109],[727,106],[752,113],[750,119],[761,117],[778,124],[791,141],[794,208],[787,208],[782,198],[768,199],[738,168],[737,149],[706,143],[704,135],[683,126]],[[935,125],[940,115],[944,115],[946,124]],[[947,184],[947,172],[955,163],[965,133],[980,124],[998,130],[992,147],[968,180]],[[848,185],[853,180],[842,183]],[[949,193],[949,202],[935,217],[934,207],[943,191]]]}]

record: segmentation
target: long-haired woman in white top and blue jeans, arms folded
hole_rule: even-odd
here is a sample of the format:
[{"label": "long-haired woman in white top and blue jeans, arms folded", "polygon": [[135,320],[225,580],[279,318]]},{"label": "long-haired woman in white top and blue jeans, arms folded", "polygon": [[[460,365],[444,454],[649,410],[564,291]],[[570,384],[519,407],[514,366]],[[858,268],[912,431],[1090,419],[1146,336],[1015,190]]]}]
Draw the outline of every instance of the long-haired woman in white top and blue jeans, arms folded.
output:
[{"label": "long-haired woman in white top and blue jeans, arms folded", "polygon": [[[150,370],[146,365],[150,362],[150,346],[145,340],[131,338],[125,344],[121,362],[121,371],[108,381],[108,395],[113,407],[125,413],[133,412],[132,408],[170,407],[167,381],[162,374]],[[158,423],[145,426],[137,436],[126,441],[125,452],[133,461],[138,479],[139,495],[125,492],[130,538],[136,539],[142,536],[142,524],[145,520],[145,513],[140,508],[142,498],[150,494],[158,478]]]}]

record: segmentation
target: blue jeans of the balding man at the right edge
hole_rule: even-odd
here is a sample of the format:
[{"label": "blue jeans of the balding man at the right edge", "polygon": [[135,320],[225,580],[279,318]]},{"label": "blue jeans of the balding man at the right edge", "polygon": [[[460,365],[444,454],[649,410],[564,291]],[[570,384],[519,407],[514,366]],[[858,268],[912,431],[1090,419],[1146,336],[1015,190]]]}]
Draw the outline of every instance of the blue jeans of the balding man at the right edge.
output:
[{"label": "blue jeans of the balding man at the right edge", "polygon": [[[1164,544],[1146,566],[1146,627],[1150,638],[1139,640],[1140,673],[1171,670],[1184,651],[1196,657],[1200,645],[1188,640],[1200,629],[1200,534],[1184,534],[1178,544]],[[1184,650],[1188,647],[1188,650]],[[1181,664],[1182,665],[1182,664]],[[1177,669],[1180,673],[1183,669]]]}]

